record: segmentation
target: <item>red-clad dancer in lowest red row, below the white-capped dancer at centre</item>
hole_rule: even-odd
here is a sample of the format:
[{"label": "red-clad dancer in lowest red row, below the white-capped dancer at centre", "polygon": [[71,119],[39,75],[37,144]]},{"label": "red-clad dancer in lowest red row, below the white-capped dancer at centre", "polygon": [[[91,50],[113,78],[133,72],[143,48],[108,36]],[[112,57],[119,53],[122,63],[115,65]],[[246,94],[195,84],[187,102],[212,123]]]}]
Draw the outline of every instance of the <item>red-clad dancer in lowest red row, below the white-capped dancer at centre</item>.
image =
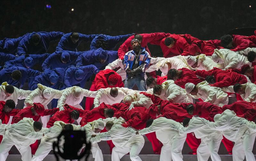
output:
[{"label": "red-clad dancer in lowest red row, below the white-capped dancer at centre", "polygon": [[[134,107],[134,109],[127,111],[129,106],[129,104],[123,103],[112,105],[112,107],[119,109],[119,111],[115,113],[114,117],[122,117],[127,120],[126,124],[122,125],[123,127],[131,126],[135,129],[140,130],[146,127],[148,119],[156,117],[157,111],[154,111],[151,106],[149,107],[149,109],[136,106]],[[151,142],[154,153],[160,154],[162,145],[160,145],[159,140],[156,138],[156,132],[146,134],[146,137]]]}]

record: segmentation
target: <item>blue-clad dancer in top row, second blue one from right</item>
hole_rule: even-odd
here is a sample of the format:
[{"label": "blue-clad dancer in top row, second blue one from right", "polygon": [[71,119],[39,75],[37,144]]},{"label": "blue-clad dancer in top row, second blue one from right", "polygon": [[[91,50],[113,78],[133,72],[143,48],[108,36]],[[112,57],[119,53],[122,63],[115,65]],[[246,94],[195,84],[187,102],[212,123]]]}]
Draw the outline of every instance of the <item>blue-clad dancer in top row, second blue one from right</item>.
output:
[{"label": "blue-clad dancer in top row, second blue one from right", "polygon": [[84,42],[91,42],[94,37],[98,36],[98,34],[80,34],[76,32],[67,33],[64,34],[58,46],[56,47],[56,51],[63,51],[63,50],[69,50],[69,51],[77,51],[77,47],[80,45],[82,41]]}]

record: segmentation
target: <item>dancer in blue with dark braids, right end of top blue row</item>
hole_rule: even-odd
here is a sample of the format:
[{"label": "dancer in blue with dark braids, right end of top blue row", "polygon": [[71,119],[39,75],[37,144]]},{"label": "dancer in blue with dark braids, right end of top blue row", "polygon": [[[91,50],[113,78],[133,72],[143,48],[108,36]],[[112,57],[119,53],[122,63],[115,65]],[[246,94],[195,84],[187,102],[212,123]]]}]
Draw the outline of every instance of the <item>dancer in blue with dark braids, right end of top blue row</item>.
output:
[{"label": "dancer in blue with dark braids, right end of top blue row", "polygon": [[109,36],[105,34],[99,34],[92,40],[90,49],[95,50],[98,48],[102,48],[103,50],[114,50],[116,44],[118,44],[119,42],[124,42],[128,37],[132,35],[133,34]]}]

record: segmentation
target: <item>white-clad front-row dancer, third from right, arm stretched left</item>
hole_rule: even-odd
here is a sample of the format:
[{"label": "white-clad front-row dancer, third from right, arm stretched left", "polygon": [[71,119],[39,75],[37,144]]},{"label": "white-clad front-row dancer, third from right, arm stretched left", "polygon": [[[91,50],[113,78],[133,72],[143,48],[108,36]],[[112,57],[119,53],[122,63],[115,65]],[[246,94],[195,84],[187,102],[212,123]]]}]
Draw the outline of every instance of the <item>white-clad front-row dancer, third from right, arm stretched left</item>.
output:
[{"label": "white-clad front-row dancer, third from right, arm stretched left", "polygon": [[181,151],[187,134],[179,134],[174,127],[182,127],[182,125],[172,119],[159,117],[149,127],[137,131],[136,134],[156,132],[156,138],[163,143],[160,161],[183,161]]}]

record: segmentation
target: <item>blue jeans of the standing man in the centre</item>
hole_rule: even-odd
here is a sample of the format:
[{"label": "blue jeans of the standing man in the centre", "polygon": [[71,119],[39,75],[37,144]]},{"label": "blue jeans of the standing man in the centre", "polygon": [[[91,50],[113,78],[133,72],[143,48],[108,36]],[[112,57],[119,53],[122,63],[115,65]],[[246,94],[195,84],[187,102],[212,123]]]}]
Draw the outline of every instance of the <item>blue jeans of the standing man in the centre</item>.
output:
[{"label": "blue jeans of the standing man in the centre", "polygon": [[144,75],[143,76],[138,76],[132,79],[127,80],[128,78],[125,79],[124,81],[124,87],[132,89],[133,86],[136,84],[138,89],[140,91],[146,91],[146,82]]}]

